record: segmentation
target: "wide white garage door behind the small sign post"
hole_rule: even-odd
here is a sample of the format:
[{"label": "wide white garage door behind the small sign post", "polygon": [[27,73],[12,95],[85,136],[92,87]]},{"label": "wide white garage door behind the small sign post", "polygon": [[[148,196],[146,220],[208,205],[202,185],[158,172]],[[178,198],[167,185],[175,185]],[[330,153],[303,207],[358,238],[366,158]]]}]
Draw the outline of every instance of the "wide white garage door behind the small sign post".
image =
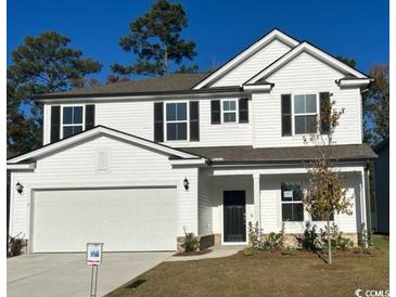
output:
[{"label": "wide white garage door behind the small sign post", "polygon": [[176,189],[35,191],[33,251],[175,250]]}]

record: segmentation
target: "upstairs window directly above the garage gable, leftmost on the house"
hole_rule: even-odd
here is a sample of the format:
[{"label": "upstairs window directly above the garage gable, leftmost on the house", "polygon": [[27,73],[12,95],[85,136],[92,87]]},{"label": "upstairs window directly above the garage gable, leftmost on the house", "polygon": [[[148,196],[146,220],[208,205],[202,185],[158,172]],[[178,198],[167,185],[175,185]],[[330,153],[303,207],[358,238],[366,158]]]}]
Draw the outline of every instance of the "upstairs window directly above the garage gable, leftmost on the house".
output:
[{"label": "upstairs window directly above the garage gable, leftmost on the house", "polygon": [[84,129],[84,107],[64,106],[62,112],[63,138],[72,137]]}]

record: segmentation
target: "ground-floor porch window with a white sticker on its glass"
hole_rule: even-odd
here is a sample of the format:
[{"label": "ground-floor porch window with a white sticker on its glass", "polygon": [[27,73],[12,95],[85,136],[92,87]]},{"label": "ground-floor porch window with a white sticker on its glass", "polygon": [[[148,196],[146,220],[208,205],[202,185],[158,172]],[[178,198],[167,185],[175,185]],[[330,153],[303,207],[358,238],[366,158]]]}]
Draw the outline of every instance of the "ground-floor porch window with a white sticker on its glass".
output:
[{"label": "ground-floor porch window with a white sticker on its glass", "polygon": [[282,183],[282,221],[304,221],[303,189],[296,183]]}]

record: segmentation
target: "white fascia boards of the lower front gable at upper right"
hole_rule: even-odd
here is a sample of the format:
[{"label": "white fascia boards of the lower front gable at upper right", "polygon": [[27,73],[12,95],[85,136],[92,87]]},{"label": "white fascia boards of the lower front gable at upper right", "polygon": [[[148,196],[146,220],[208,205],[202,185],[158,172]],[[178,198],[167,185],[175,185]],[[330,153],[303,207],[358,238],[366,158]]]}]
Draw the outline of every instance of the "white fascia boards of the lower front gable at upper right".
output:
[{"label": "white fascia boards of the lower front gable at upper right", "polygon": [[332,57],[330,54],[319,50],[318,48],[315,48],[314,46],[311,46],[307,42],[303,42],[299,46],[295,47],[293,50],[289,51],[286,54],[284,54],[281,59],[276,61],[273,64],[271,64],[270,66],[265,68],[261,73],[257,74],[256,76],[254,76],[253,78],[247,80],[244,85],[255,83],[259,79],[263,79],[263,78],[273,74],[274,72],[280,69],[282,66],[284,66],[285,64],[288,64],[289,62],[294,60],[297,55],[299,55],[303,52],[307,52],[307,53],[311,54],[312,56],[332,65],[333,67],[335,67],[342,72],[352,74],[352,75],[356,76],[357,78],[368,78],[366,75],[359,73],[358,70],[355,70],[353,67],[340,62],[335,57]]}]

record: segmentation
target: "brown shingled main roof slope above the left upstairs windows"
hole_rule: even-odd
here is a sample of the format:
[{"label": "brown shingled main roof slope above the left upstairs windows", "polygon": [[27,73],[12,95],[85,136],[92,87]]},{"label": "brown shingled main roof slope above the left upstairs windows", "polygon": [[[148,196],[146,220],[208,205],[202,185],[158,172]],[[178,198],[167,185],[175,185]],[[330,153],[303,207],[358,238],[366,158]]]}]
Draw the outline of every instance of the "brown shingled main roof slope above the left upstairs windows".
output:
[{"label": "brown shingled main roof slope above the left upstairs windows", "polygon": [[166,93],[190,90],[194,85],[210,75],[201,74],[168,74],[142,80],[123,81],[88,88],[76,88],[69,91],[36,95],[34,99],[54,99],[91,95],[130,95]]}]

